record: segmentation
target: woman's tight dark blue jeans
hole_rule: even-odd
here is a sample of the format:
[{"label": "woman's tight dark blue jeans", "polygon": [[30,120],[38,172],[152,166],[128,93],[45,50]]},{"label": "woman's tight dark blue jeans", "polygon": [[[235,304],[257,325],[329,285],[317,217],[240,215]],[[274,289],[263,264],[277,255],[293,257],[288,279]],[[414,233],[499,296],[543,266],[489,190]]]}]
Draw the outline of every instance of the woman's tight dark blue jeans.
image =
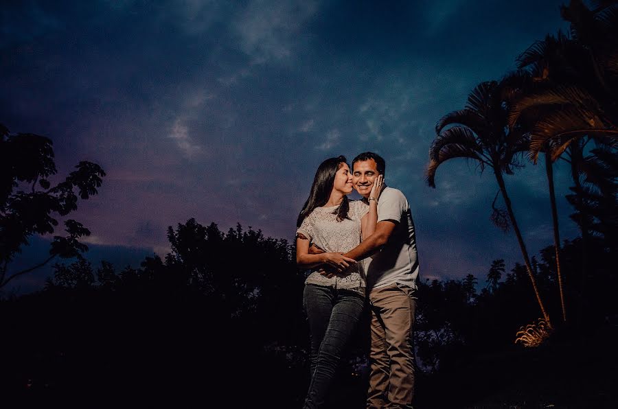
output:
[{"label": "woman's tight dark blue jeans", "polygon": [[303,304],[311,343],[311,383],[304,408],[321,408],[365,298],[350,290],[307,284]]}]

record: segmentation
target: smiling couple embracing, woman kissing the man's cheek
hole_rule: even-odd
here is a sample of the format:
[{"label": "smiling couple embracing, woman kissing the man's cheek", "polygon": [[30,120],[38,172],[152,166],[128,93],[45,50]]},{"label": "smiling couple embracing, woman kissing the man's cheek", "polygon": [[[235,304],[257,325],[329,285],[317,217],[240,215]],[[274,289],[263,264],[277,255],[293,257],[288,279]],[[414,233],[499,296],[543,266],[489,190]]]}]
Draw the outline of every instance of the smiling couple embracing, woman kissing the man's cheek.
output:
[{"label": "smiling couple embracing, woman kissing the man's cheek", "polygon": [[[336,367],[371,309],[367,408],[411,408],[412,327],[418,261],[408,201],[383,185],[385,161],[365,152],[319,165],[297,220],[297,264],[313,271],[303,304],[310,329],[311,382],[304,408],[321,408]],[[356,189],[363,198],[348,200]]]}]

